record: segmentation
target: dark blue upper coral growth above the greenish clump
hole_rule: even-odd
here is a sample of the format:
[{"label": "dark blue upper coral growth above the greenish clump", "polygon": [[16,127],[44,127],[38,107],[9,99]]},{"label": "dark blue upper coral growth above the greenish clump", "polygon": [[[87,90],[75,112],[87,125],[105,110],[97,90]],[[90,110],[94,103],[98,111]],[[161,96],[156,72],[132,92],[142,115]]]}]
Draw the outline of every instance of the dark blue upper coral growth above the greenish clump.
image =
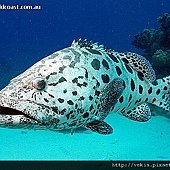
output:
[{"label": "dark blue upper coral growth above the greenish clump", "polygon": [[158,49],[170,49],[170,14],[165,13],[158,17],[158,29],[145,29],[135,35],[132,44],[144,50],[146,54],[153,55]]}]

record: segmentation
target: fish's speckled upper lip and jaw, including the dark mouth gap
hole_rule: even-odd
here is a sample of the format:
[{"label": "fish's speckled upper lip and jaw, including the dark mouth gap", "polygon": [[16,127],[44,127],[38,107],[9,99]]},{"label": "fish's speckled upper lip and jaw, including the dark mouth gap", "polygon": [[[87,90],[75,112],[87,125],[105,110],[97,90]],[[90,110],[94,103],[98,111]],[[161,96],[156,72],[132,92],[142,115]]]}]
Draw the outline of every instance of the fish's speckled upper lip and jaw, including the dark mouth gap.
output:
[{"label": "fish's speckled upper lip and jaw, including the dark mouth gap", "polygon": [[14,100],[0,94],[0,115],[24,116],[43,126],[57,124],[63,118],[60,111],[29,100]]}]

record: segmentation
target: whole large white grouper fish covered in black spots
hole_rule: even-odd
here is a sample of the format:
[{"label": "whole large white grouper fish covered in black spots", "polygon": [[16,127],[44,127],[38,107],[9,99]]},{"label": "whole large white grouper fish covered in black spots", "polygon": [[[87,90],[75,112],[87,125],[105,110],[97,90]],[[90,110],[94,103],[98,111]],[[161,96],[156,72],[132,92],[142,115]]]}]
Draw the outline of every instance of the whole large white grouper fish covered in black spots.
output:
[{"label": "whole large white grouper fish covered in black spots", "polygon": [[0,91],[0,126],[107,135],[109,113],[146,122],[148,103],[170,111],[170,76],[156,79],[149,61],[86,39],[54,52]]}]

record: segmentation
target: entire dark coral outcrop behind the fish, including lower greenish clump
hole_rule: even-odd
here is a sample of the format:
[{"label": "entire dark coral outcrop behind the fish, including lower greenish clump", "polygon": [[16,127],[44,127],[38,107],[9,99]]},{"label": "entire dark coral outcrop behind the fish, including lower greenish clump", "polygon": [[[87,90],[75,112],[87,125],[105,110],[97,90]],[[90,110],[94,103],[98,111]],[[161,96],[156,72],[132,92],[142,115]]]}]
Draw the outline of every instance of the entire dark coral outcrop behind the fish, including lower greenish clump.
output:
[{"label": "entire dark coral outcrop behind the fish, including lower greenish clump", "polygon": [[157,18],[158,29],[145,29],[134,36],[132,44],[144,51],[144,56],[153,63],[154,68],[159,70],[164,67],[164,72],[158,74],[169,75],[170,73],[170,14],[165,13]]}]

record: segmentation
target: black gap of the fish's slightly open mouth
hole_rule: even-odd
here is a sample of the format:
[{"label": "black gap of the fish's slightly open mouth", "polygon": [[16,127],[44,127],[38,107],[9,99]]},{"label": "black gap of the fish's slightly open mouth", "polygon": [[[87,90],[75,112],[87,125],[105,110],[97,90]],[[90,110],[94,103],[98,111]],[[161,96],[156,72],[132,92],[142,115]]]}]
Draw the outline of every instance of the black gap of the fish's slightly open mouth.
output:
[{"label": "black gap of the fish's slightly open mouth", "polygon": [[0,115],[11,115],[11,116],[22,115],[22,116],[25,116],[29,119],[37,121],[35,118],[25,114],[22,111],[19,111],[17,109],[13,109],[13,108],[10,108],[10,107],[4,107],[4,106],[0,106]]}]

